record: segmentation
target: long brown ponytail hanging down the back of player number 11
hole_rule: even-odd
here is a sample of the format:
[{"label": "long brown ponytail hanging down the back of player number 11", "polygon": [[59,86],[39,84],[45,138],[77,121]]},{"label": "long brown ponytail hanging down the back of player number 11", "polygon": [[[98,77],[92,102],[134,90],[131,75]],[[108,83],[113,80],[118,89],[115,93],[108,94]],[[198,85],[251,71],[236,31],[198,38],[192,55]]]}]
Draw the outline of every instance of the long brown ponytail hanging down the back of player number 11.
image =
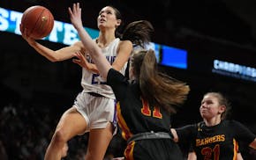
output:
[{"label": "long brown ponytail hanging down the back of player number 11", "polygon": [[154,50],[137,50],[132,56],[132,69],[142,98],[149,104],[177,113],[177,106],[184,103],[190,91],[188,85],[159,72]]}]

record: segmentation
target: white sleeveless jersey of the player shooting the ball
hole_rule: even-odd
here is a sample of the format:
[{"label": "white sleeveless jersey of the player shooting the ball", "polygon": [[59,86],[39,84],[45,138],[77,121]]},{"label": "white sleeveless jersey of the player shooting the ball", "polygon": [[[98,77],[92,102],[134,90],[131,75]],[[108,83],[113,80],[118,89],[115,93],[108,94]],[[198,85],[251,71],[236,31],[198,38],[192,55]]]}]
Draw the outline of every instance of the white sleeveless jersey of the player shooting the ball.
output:
[{"label": "white sleeveless jersey of the player shooting the ball", "polygon": [[[111,43],[109,43],[109,46],[102,48],[102,54],[106,56],[109,63],[112,65],[112,63],[115,61],[117,56],[117,47],[119,44],[120,39],[115,39]],[[87,61],[92,62],[92,59],[89,57],[87,51]],[[127,62],[125,62],[124,67],[120,70],[120,72],[124,75],[125,69],[127,67]],[[101,94],[102,96],[106,98],[113,98],[115,99],[114,92],[112,91],[111,87],[106,84],[106,79],[104,79],[102,76],[96,73],[92,73],[91,71],[84,69],[82,71],[82,79],[81,79],[81,85],[85,92],[94,92]]]}]

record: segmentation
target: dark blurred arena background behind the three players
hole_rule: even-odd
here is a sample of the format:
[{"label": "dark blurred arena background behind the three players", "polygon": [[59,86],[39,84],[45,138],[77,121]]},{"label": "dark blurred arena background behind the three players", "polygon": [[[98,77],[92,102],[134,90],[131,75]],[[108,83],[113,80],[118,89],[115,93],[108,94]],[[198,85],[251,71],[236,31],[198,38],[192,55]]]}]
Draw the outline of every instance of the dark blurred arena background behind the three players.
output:
[{"label": "dark blurred arena background behind the three players", "polygon": [[[55,20],[70,23],[67,8],[76,2],[82,7],[83,24],[88,28],[97,30],[98,12],[107,4],[121,11],[124,25],[140,19],[154,25],[152,41],[158,44],[155,48],[160,68],[192,89],[174,116],[173,127],[200,121],[203,94],[221,91],[233,106],[230,118],[256,134],[256,1],[1,0],[0,159],[43,159],[57,121],[81,91],[80,67],[72,61],[52,63],[37,54],[17,31],[4,28],[4,19],[15,19],[4,11],[23,12],[32,5],[43,5]],[[41,43],[52,49],[67,45],[50,40]],[[185,52],[184,68],[169,65],[169,47]],[[87,136],[72,139],[64,159],[83,159]],[[106,159],[122,156],[120,146],[124,144],[116,135]],[[180,147],[185,153],[185,146]],[[241,151],[245,159],[255,159],[255,151],[247,147]]]}]

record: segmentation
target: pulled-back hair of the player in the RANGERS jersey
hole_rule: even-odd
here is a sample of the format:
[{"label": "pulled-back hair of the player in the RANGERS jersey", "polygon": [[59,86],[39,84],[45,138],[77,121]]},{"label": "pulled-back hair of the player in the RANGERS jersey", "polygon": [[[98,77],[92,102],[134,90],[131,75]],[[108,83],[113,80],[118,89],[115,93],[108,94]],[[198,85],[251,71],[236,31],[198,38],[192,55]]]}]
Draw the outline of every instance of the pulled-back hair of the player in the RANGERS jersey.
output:
[{"label": "pulled-back hair of the player in the RANGERS jersey", "polygon": [[218,99],[219,105],[224,105],[226,107],[225,111],[221,115],[222,120],[226,119],[226,117],[228,116],[228,114],[230,113],[230,110],[231,110],[231,104],[230,104],[230,101],[228,100],[228,98],[226,98],[221,92],[215,92],[215,91],[207,92],[204,95],[204,97],[206,95],[214,96],[215,98]]}]

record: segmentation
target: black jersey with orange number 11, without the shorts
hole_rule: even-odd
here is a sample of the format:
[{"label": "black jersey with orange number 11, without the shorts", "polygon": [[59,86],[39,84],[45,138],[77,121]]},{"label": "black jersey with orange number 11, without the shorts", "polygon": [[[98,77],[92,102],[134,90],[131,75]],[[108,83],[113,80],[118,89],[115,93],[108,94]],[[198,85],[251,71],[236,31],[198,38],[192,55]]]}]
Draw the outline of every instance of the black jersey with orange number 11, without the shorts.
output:
[{"label": "black jersey with orange number 11, without the shorts", "polygon": [[129,82],[115,69],[109,69],[107,82],[117,98],[118,125],[125,140],[132,135],[151,131],[169,133],[169,113],[143,100],[136,81]]}]

